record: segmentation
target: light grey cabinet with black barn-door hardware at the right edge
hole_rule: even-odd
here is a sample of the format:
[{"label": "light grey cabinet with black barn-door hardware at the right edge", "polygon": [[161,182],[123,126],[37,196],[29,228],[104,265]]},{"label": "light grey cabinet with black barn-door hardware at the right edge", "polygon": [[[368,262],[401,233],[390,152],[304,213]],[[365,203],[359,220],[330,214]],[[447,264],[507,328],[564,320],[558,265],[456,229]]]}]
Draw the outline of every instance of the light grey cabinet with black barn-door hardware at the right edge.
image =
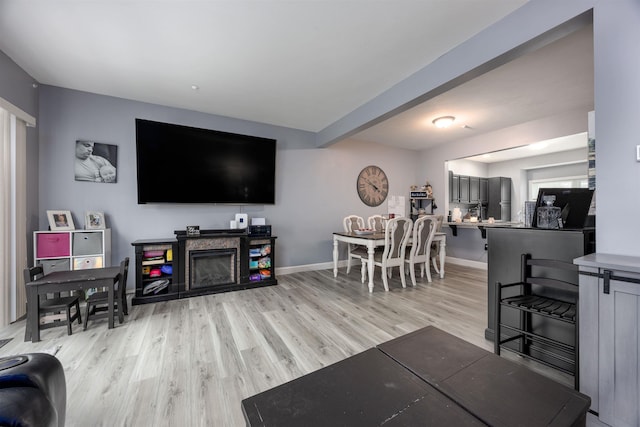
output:
[{"label": "light grey cabinet with black barn-door hardware at the right edge", "polygon": [[640,425],[640,257],[590,254],[580,268],[580,391],[612,426]]}]

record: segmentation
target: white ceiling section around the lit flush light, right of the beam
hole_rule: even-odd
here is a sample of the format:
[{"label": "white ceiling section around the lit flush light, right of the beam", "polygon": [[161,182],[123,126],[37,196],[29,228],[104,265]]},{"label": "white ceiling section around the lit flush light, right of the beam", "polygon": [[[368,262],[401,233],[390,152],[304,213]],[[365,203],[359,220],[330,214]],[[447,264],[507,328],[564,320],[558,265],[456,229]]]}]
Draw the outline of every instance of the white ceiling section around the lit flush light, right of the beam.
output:
[{"label": "white ceiling section around the lit flush light, right of the beam", "polygon": [[[593,31],[587,26],[354,138],[425,149],[570,111],[586,117],[593,91]],[[438,129],[432,121],[440,116],[456,121]]]}]

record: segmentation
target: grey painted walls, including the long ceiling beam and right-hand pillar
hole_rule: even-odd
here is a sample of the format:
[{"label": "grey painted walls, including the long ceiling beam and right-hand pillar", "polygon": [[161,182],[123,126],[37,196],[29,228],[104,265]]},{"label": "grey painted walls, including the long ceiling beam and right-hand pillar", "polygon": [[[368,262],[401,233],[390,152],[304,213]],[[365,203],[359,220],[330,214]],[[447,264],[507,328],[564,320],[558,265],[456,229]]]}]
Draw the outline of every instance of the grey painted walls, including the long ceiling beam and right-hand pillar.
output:
[{"label": "grey painted walls, including the long ceiling beam and right-hand pillar", "polygon": [[[329,146],[354,129],[380,120],[387,112],[418,102],[425,93],[472,73],[487,61],[522,43],[594,9],[595,47],[595,129],[598,186],[599,251],[640,255],[640,246],[628,236],[638,235],[640,223],[619,227],[620,200],[629,212],[640,210],[640,195],[633,191],[640,168],[635,160],[635,123],[640,111],[640,57],[630,54],[640,38],[640,14],[635,0],[531,0],[506,19],[489,27],[443,55],[405,81],[374,98],[317,135],[291,129],[208,116],[184,110],[134,103],[83,94],[59,88],[41,88],[38,112],[33,88],[26,73],[0,56],[0,96],[39,120],[40,160],[30,149],[30,197],[40,192],[39,206],[32,215],[45,227],[46,209],[103,210],[114,228],[114,257],[131,254],[129,242],[137,238],[171,235],[186,224],[217,227],[226,224],[238,209],[229,206],[139,206],[135,204],[133,118],[143,116],[160,121],[275,137],[281,142],[278,153],[277,202],[275,206],[248,207],[249,214],[265,216],[274,225],[278,241],[278,264],[295,266],[331,259],[331,231],[340,228],[339,219],[348,213],[366,216],[379,209],[366,208],[355,195],[355,177],[361,167],[380,164],[390,175],[392,194],[406,194],[413,183],[429,180],[436,201],[444,206],[448,194],[445,161],[584,132],[583,111],[557,117],[536,118],[482,138],[468,138],[426,150],[420,156],[380,146],[343,142]],[[615,31],[612,29],[615,28]],[[8,74],[7,74],[8,73]],[[7,78],[6,76],[9,76]],[[17,76],[18,86],[15,86]],[[122,109],[122,111],[120,111]],[[30,144],[34,133],[30,130]],[[73,181],[72,144],[78,138],[120,146],[118,184],[87,184]],[[36,167],[38,165],[38,167]],[[95,190],[98,188],[98,190]],[[443,209],[443,208],[441,208]],[[78,221],[82,224],[82,220]],[[311,229],[310,229],[311,228]]]}]

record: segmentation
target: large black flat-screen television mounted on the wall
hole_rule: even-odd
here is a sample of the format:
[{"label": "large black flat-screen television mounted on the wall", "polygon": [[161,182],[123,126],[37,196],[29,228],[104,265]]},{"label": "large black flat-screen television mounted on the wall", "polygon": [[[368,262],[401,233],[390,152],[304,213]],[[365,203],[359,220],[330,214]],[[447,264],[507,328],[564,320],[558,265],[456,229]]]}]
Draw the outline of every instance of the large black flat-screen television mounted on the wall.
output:
[{"label": "large black flat-screen television mounted on the wall", "polygon": [[138,203],[274,204],[276,140],[136,119]]}]

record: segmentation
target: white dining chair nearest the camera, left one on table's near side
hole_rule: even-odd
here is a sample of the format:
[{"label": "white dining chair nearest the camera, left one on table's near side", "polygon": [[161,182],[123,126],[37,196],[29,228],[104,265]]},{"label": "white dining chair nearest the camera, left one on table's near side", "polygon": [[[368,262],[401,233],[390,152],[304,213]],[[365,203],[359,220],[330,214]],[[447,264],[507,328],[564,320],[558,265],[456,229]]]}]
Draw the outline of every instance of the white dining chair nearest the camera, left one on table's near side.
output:
[{"label": "white dining chair nearest the camera, left one on table's near side", "polygon": [[[404,274],[404,259],[407,243],[411,236],[412,226],[413,221],[411,221],[410,218],[405,217],[393,218],[387,222],[387,227],[384,230],[384,251],[377,251],[373,260],[373,264],[382,269],[382,281],[384,283],[385,291],[389,290],[388,277],[391,277],[391,269],[393,267],[399,267],[402,287],[407,287]],[[362,283],[364,283],[366,280],[369,257],[367,255],[367,257],[363,257],[361,259]]]}]

